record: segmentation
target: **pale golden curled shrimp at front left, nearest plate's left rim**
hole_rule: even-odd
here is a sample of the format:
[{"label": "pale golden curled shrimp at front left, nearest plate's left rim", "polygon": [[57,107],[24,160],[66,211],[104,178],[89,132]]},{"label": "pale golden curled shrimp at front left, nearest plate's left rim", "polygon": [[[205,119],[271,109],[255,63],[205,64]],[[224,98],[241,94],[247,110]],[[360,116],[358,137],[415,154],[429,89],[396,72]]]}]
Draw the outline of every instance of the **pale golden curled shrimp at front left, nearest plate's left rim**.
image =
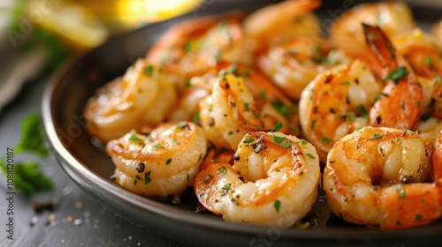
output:
[{"label": "pale golden curled shrimp at front left, nearest plate's left rim", "polygon": [[206,149],[201,127],[189,122],[162,123],[149,136],[130,131],[106,146],[118,184],[146,197],[174,199],[193,185]]}]

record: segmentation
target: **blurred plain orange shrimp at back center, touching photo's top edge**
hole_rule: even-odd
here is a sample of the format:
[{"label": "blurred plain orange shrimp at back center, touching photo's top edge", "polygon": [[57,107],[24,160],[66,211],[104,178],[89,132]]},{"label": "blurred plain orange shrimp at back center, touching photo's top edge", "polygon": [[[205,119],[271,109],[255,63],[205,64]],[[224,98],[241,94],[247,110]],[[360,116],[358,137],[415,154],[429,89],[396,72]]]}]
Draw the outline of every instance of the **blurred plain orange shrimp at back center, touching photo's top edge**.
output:
[{"label": "blurred plain orange shrimp at back center, touching photo's top edge", "polygon": [[248,48],[259,53],[273,41],[293,36],[320,40],[319,19],[311,12],[320,5],[320,0],[289,0],[255,11],[244,19]]}]

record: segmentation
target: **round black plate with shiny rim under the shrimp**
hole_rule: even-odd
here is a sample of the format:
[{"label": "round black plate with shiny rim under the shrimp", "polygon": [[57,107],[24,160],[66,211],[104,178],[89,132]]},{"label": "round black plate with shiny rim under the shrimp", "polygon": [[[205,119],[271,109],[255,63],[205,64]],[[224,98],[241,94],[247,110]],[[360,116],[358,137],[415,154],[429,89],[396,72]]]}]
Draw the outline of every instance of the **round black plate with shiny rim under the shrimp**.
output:
[{"label": "round black plate with shiny rim under the shrimp", "polygon": [[[73,63],[54,78],[44,95],[43,120],[51,146],[65,172],[90,196],[129,221],[197,246],[315,246],[354,245],[422,246],[441,243],[442,221],[420,228],[384,231],[349,225],[338,217],[328,217],[323,201],[308,216],[316,221],[305,230],[263,228],[228,223],[212,213],[197,213],[197,200],[188,191],[181,204],[142,198],[110,180],[114,166],[86,131],[83,108],[95,89],[122,75],[139,56],[172,24],[182,19],[225,11],[254,11],[272,1],[206,1],[198,10],[162,23],[146,26],[115,37]],[[344,5],[324,1],[319,12],[323,19],[336,18]],[[352,2],[352,1],[344,1]],[[356,1],[352,3],[355,4]],[[413,6],[415,17],[428,26],[440,18],[440,8]],[[325,22],[324,22],[325,23]]]}]

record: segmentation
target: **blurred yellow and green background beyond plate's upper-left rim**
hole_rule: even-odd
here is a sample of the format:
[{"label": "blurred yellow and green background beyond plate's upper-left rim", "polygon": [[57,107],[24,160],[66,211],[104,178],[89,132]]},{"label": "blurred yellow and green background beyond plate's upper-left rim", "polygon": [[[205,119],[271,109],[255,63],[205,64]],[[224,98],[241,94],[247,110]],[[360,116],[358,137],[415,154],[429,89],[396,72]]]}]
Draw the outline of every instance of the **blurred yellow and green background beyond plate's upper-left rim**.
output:
[{"label": "blurred yellow and green background beyond plate's upper-left rim", "polygon": [[202,4],[203,0],[1,0],[0,114],[39,73],[56,70],[113,35]]}]

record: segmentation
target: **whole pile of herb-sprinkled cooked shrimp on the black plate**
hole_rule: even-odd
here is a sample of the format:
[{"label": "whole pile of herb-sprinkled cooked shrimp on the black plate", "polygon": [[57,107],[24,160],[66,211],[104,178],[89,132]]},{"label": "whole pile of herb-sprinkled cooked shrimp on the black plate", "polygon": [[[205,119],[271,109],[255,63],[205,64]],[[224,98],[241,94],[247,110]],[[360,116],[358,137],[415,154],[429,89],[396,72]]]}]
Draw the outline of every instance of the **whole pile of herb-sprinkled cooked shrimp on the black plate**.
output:
[{"label": "whole pile of herb-sprinkled cooked shrimp on the black plate", "polygon": [[438,221],[442,22],[427,33],[405,3],[359,4],[323,35],[320,5],[183,21],[99,88],[84,112],[115,182],[175,203],[193,187],[246,224],[304,224],[321,190],[349,223]]}]

